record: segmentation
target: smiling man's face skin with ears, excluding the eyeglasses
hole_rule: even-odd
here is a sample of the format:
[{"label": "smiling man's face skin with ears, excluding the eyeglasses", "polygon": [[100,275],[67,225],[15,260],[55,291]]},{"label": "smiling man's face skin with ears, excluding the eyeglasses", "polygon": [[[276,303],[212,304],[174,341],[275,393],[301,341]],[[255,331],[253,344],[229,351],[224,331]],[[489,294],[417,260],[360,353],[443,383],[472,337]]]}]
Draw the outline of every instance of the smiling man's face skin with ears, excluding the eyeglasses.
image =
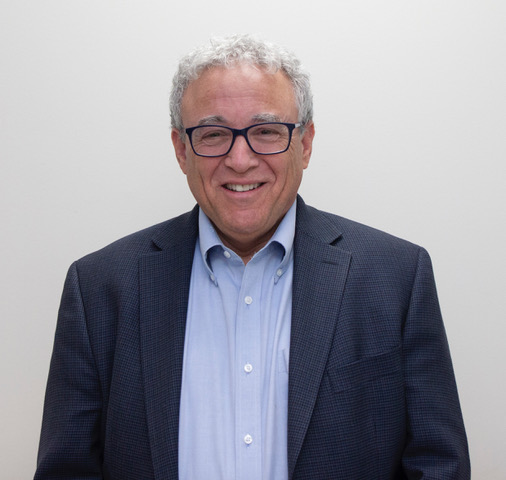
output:
[{"label": "smiling man's face skin with ears, excluding the eyeglasses", "polygon": [[[290,80],[249,65],[215,67],[192,82],[182,102],[185,128],[202,123],[245,128],[276,119],[296,123],[298,111]],[[193,153],[188,136],[172,131],[179,165],[204,213],[225,245],[240,255],[267,243],[293,204],[302,172],[308,166],[313,124],[293,132],[289,149],[277,155],[257,155],[243,137],[222,157]],[[244,256],[244,255],[243,255]]]}]

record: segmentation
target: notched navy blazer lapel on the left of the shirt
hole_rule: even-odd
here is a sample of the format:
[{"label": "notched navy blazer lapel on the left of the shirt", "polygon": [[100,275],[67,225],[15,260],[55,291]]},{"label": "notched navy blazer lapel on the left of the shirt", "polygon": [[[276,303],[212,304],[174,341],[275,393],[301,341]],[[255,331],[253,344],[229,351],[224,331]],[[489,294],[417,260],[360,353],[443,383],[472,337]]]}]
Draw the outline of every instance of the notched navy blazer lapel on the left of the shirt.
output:
[{"label": "notched navy blazer lapel on the left of the shirt", "polygon": [[179,399],[197,210],[175,219],[139,263],[140,345],[155,478],[178,477]]}]

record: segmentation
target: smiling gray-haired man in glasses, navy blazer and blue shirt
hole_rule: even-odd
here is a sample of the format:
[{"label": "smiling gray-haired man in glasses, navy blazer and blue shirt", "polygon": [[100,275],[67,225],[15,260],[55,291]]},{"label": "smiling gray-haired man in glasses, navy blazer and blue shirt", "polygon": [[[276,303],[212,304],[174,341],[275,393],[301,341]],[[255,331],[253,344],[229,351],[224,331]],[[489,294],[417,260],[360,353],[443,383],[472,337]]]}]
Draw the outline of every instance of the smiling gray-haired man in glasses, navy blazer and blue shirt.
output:
[{"label": "smiling gray-haired man in glasses, navy blazer and blue shirt", "polygon": [[298,60],[214,40],[171,115],[198,207],[70,268],[35,478],[469,478],[427,253],[297,197]]}]

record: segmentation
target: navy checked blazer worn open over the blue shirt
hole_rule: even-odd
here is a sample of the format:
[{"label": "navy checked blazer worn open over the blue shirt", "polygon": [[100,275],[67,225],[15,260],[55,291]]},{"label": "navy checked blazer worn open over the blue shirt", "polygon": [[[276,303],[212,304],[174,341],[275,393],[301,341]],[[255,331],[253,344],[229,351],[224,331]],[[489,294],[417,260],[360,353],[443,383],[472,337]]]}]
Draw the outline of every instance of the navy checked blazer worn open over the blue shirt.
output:
[{"label": "navy checked blazer worn open over the blue shirt", "polygon": [[[197,212],[71,266],[36,480],[177,479]],[[290,479],[470,477],[429,256],[300,197],[288,390]]]}]

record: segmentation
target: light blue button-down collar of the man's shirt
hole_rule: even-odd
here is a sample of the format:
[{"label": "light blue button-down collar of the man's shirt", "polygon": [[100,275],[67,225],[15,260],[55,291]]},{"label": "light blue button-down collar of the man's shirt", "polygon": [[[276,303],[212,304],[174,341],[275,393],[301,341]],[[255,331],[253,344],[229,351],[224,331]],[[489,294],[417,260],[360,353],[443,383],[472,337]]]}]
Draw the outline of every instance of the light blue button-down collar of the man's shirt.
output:
[{"label": "light blue button-down collar of the man's shirt", "polygon": [[[280,264],[281,268],[283,268],[289,262],[291,257],[293,249],[293,239],[295,237],[296,210],[297,210],[297,200],[293,202],[292,206],[290,207],[288,212],[286,212],[285,216],[283,217],[283,220],[281,220],[281,223],[274,232],[274,235],[262,248],[262,250],[267,248],[273,242],[277,242],[279,245],[283,247],[285,254],[283,255],[283,259]],[[223,250],[230,250],[223,245],[223,242],[220,240],[220,237],[216,233],[213,224],[211,223],[207,215],[202,211],[202,209],[199,208],[199,248],[200,253],[202,255],[202,259],[204,260],[204,264],[210,274],[212,273],[212,270],[209,265],[208,256],[209,251],[214,247],[221,247]]]}]

